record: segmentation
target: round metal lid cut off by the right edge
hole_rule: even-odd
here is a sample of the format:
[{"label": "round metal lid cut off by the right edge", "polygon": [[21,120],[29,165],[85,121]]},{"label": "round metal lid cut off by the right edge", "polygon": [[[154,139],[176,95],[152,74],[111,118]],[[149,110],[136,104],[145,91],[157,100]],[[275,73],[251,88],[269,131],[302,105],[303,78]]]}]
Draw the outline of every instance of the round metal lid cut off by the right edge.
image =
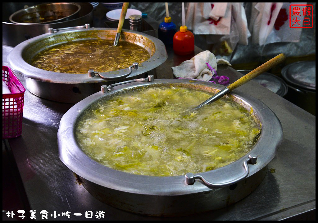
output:
[{"label": "round metal lid cut off by the right edge", "polygon": [[281,70],[283,78],[297,87],[316,90],[316,62],[299,61],[287,65]]}]

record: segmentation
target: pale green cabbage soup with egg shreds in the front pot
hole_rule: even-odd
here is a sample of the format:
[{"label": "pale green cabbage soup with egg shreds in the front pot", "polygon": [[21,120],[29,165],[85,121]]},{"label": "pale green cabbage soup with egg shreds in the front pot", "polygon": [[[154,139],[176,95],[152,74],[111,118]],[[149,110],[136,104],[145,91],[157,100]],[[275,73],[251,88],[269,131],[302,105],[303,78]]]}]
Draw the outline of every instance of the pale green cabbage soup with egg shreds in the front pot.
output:
[{"label": "pale green cabbage soup with egg shreds in the front pot", "polygon": [[145,87],[114,96],[81,116],[77,141],[95,161],[132,174],[176,176],[223,167],[247,154],[260,130],[227,98],[184,115],[212,95]]}]

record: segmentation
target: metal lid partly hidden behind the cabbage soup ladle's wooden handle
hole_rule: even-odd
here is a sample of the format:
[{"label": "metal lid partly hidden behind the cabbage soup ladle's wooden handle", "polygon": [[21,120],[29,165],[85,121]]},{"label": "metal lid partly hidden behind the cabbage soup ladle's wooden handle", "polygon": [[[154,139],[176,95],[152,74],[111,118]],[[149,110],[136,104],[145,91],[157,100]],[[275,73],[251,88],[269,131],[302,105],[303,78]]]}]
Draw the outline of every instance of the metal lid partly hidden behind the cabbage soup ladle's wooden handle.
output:
[{"label": "metal lid partly hidden behind the cabbage soup ladle's wooden handle", "polygon": [[[251,72],[251,70],[238,70],[243,75]],[[287,94],[287,84],[278,76],[271,73],[262,73],[253,79],[268,90],[273,91],[275,94],[281,97]]]}]

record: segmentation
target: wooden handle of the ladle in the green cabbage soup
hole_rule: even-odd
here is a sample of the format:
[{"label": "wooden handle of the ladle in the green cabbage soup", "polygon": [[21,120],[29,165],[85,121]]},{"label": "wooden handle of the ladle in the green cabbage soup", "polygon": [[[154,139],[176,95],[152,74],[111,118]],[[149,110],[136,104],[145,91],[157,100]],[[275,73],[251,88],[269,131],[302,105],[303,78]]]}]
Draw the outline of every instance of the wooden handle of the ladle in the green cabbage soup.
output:
[{"label": "wooden handle of the ladle in the green cabbage soup", "polygon": [[229,86],[227,86],[227,88],[230,91],[232,91],[232,90],[238,88],[239,86],[241,86],[242,84],[252,80],[254,77],[257,77],[258,75],[260,75],[260,74],[266,72],[267,70],[273,68],[277,64],[283,62],[284,60],[285,60],[285,55],[281,53],[281,54],[275,56],[273,59],[270,59],[266,63],[260,65],[258,68],[252,70],[248,74],[244,75],[243,77],[241,77],[236,82],[230,84]]}]

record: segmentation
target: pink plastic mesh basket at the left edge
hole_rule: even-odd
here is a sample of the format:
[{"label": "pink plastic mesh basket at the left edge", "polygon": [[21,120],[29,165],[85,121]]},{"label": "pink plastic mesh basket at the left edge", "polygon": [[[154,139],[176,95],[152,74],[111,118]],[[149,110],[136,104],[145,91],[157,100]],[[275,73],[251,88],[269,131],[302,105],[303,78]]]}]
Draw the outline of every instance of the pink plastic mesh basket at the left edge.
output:
[{"label": "pink plastic mesh basket at the left edge", "polygon": [[22,114],[25,89],[9,67],[2,66],[2,80],[11,94],[2,94],[2,138],[22,133]]}]

